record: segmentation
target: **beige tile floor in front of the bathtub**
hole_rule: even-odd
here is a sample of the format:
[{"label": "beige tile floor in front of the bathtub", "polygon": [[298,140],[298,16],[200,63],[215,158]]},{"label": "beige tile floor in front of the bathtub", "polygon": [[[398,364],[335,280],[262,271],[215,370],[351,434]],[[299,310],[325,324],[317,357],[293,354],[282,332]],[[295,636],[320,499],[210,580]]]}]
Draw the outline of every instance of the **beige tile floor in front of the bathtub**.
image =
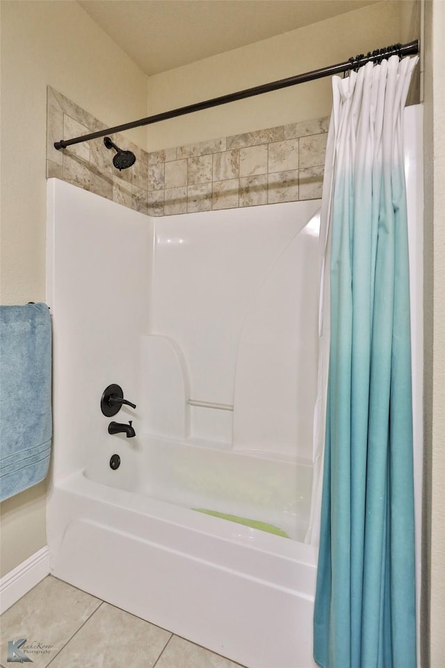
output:
[{"label": "beige tile floor in front of the bathtub", "polygon": [[51,575],[6,610],[0,624],[1,668],[13,665],[8,641],[22,638],[20,649],[34,668],[239,667]]}]

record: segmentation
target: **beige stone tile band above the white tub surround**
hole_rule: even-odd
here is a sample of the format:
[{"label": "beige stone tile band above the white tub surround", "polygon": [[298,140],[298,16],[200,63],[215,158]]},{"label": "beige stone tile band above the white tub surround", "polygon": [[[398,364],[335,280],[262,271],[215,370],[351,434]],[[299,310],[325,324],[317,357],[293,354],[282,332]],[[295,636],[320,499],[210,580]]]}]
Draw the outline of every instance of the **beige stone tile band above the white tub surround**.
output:
[{"label": "beige stone tile band above the white tub surround", "polygon": [[327,118],[147,153],[119,172],[99,138],[64,150],[54,141],[106,126],[48,87],[47,177],[57,177],[152,216],[252,207],[321,197]]}]

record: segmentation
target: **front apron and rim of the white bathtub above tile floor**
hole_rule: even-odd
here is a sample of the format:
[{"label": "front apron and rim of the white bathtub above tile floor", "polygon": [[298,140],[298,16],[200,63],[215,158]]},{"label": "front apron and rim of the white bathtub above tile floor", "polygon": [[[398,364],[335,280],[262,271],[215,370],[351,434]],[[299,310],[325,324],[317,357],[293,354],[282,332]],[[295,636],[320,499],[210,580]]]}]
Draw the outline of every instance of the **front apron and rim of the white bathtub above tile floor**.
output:
[{"label": "front apron and rim of the white bathtub above tile floor", "polygon": [[57,578],[172,633],[250,668],[315,665],[312,546],[83,472],[51,489],[48,541]]}]

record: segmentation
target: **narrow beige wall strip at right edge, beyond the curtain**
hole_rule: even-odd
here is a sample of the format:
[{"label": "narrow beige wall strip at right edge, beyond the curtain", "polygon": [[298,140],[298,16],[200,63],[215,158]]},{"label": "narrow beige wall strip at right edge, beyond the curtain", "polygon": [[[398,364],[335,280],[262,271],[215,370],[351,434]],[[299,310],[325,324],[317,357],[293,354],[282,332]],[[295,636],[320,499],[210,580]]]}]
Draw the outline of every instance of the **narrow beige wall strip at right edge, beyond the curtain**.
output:
[{"label": "narrow beige wall strip at right edge, beyond the curtain", "polygon": [[[426,2],[425,50],[425,464],[423,615],[430,615],[427,668],[445,665],[445,2]],[[432,259],[432,262],[431,262]],[[430,514],[430,518],[428,515]],[[430,519],[430,522],[429,522]],[[428,555],[429,552],[429,555]],[[429,566],[429,568],[428,568]],[[428,572],[429,571],[429,572]],[[426,621],[428,632],[428,620]],[[430,654],[428,662],[428,653]]]}]

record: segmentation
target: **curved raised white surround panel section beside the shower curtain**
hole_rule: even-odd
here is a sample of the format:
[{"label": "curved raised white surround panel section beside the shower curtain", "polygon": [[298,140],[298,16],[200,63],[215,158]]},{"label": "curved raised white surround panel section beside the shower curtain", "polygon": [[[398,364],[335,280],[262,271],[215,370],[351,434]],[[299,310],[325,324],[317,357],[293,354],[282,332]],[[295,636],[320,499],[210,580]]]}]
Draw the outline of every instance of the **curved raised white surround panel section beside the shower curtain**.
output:
[{"label": "curved raised white surround panel section beside the shower curtain", "polygon": [[317,209],[318,201],[300,213],[306,224],[270,267],[248,307],[234,379],[236,450],[298,456],[311,465],[320,221],[318,215],[308,220]]}]

